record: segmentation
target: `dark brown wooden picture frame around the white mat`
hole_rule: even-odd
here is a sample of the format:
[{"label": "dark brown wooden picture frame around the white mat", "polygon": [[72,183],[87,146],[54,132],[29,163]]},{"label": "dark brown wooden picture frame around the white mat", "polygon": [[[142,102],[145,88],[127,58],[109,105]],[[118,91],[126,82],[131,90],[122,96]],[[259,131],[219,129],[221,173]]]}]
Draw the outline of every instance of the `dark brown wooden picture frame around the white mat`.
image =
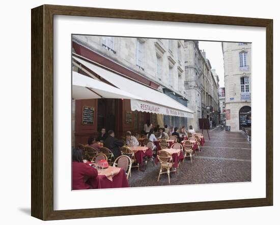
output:
[{"label": "dark brown wooden picture frame around the white mat", "polygon": [[[266,28],[266,197],[97,209],[53,210],[53,15]],[[271,206],[273,204],[273,21],[271,19],[43,5],[32,9],[32,207],[42,220]]]}]

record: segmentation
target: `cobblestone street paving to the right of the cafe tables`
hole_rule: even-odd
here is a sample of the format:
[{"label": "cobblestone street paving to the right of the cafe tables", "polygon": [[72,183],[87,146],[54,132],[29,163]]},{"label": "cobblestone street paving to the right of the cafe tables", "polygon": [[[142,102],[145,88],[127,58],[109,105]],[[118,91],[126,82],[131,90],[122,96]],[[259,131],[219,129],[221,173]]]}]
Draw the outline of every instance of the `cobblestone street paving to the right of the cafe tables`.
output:
[{"label": "cobblestone street paving to the right of the cafe tables", "polygon": [[131,187],[205,184],[251,181],[251,145],[241,132],[228,132],[215,128],[204,131],[205,145],[191,163],[189,158],[181,163],[182,170],[175,176],[171,174],[168,183],[167,175],[163,174],[157,182],[159,164],[148,163],[145,172],[133,168],[129,178]]}]

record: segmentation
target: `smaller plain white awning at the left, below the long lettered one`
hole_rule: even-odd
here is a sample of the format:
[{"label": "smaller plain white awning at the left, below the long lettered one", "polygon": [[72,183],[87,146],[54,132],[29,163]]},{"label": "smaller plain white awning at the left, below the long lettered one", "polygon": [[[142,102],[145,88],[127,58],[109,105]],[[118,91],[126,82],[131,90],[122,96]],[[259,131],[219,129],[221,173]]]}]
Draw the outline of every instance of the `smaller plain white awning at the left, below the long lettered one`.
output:
[{"label": "smaller plain white awning at the left, below the long lettered one", "polygon": [[72,71],[72,98],[76,100],[93,98],[142,99],[75,71]]}]

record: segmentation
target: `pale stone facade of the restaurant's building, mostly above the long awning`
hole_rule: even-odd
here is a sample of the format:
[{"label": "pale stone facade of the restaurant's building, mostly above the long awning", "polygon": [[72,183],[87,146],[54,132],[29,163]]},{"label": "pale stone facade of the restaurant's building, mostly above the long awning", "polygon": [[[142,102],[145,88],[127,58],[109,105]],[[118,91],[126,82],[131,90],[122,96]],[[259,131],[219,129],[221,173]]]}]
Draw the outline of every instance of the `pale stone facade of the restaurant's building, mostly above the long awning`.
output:
[{"label": "pale stone facade of the restaurant's building, mostly above the long awning", "polygon": [[[159,91],[187,106],[183,40],[75,35],[73,41],[157,83]],[[184,117],[163,116],[163,121],[187,126]]]}]

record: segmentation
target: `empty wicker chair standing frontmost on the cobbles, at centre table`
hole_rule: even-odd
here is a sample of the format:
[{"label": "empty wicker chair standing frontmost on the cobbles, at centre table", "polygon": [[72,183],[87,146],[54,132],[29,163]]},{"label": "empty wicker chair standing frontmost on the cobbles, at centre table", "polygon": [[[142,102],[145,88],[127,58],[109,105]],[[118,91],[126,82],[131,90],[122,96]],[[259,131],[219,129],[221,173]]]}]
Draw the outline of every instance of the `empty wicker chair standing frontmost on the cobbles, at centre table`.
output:
[{"label": "empty wicker chair standing frontmost on the cobbles, at centre table", "polygon": [[[172,155],[169,152],[160,150],[157,152],[157,158],[158,161],[160,162],[160,170],[159,170],[157,181],[159,181],[161,174],[167,174],[168,182],[170,184],[170,172],[175,172],[176,175],[176,168],[175,170],[172,170],[173,169]],[[166,171],[162,172],[163,169],[165,169]]]}]

